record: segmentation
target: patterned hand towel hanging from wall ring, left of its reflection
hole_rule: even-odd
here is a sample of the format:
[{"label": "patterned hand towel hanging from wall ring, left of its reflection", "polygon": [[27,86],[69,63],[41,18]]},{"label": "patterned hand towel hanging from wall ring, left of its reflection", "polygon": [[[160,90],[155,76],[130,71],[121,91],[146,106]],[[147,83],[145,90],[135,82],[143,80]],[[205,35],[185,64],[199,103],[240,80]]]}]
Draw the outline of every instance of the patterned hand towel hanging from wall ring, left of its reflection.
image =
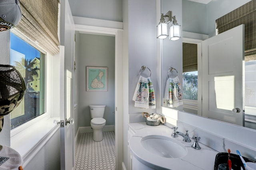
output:
[{"label": "patterned hand towel hanging from wall ring, left of its reflection", "polygon": [[156,108],[154,88],[150,77],[140,76],[132,100],[135,101],[135,107]]}]

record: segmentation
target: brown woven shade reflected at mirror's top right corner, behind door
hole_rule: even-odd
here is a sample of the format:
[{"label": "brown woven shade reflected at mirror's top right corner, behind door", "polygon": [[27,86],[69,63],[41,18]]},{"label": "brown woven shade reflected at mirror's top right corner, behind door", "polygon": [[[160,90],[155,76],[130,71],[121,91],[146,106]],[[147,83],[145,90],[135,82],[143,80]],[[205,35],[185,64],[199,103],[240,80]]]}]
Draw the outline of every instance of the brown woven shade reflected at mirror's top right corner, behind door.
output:
[{"label": "brown woven shade reflected at mirror's top right corner, behind door", "polygon": [[215,22],[218,34],[244,24],[244,60],[256,60],[256,0],[240,6]]}]

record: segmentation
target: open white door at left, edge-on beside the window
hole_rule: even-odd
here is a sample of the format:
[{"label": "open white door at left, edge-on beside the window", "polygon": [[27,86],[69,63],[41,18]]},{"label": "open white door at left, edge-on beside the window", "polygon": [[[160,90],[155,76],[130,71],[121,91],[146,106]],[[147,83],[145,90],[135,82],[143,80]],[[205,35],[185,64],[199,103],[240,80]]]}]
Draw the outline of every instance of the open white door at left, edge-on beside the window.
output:
[{"label": "open white door at left, edge-on beside the window", "polygon": [[[60,163],[74,168],[74,20],[68,0],[60,1]],[[68,122],[70,121],[70,122]]]}]

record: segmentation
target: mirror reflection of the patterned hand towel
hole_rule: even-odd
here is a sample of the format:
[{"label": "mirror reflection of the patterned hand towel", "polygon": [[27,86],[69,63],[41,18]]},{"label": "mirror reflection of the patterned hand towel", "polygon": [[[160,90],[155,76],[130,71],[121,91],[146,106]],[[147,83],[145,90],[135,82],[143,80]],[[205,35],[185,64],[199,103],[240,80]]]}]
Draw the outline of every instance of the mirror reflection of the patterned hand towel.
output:
[{"label": "mirror reflection of the patterned hand towel", "polygon": [[175,78],[168,78],[166,81],[164,99],[167,101],[168,107],[178,107],[183,104],[178,76]]}]

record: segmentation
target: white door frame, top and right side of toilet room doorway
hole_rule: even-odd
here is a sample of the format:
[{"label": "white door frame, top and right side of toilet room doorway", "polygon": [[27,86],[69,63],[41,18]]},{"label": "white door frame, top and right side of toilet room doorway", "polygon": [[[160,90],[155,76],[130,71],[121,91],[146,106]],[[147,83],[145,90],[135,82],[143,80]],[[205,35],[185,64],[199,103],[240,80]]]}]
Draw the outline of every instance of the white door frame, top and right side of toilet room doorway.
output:
[{"label": "white door frame, top and right side of toilet room doorway", "polygon": [[115,146],[116,169],[123,162],[123,23],[73,16],[75,31],[115,37]]}]

